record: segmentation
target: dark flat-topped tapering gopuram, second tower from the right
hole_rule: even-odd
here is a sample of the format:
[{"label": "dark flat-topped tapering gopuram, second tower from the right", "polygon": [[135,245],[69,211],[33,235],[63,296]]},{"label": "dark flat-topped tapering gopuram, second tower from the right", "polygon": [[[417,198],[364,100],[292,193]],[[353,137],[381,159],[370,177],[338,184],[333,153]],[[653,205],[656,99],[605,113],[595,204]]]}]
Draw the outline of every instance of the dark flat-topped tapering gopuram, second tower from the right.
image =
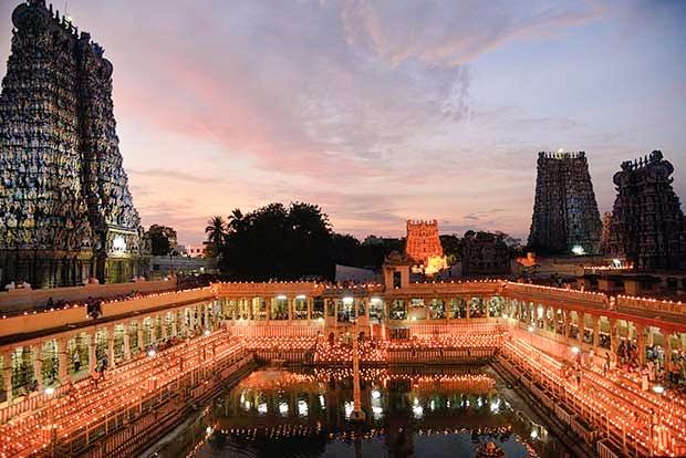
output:
[{"label": "dark flat-topped tapering gopuram, second tower from the right", "polygon": [[597,254],[601,232],[585,153],[539,153],[529,248],[541,254]]}]

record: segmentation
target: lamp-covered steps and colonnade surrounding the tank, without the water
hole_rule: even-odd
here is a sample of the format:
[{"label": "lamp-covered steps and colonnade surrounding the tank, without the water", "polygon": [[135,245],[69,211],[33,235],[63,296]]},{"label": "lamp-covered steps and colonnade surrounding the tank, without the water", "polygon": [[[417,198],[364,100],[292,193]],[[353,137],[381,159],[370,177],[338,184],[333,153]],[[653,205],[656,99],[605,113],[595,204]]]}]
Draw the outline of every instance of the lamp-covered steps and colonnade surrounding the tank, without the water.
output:
[{"label": "lamp-covered steps and colonnade surrounding the tank, without the water", "polygon": [[[218,282],[149,292],[104,302],[95,320],[79,302],[27,319],[3,305],[18,292],[2,293],[0,454],[134,456],[256,363],[341,371],[354,355],[360,371],[490,364],[600,456],[686,454],[686,399],[674,388],[686,367],[682,304],[508,281],[412,283],[406,272],[396,284],[398,269],[407,267],[388,264],[384,283],[349,287]],[[41,296],[22,306],[31,301]],[[103,360],[107,376],[93,384]],[[644,377],[646,364],[664,378]],[[472,383],[481,379],[492,383]],[[370,408],[355,396],[351,418]]]}]

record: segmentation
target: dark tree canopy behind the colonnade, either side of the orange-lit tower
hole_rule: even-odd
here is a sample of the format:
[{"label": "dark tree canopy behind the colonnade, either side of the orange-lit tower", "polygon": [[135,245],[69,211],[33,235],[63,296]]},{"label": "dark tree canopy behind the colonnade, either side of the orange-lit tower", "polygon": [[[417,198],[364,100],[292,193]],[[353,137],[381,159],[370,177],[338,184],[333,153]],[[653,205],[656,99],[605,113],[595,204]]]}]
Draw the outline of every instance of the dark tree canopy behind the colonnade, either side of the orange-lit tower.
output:
[{"label": "dark tree canopy behind the colonnade, either side of the orange-lit tower", "polygon": [[[273,202],[243,214],[235,209],[226,219],[212,217],[205,230],[208,252],[221,271],[235,280],[333,279],[335,264],[378,269],[392,251],[403,252],[404,238],[368,236],[364,241],[335,233],[329,216],[312,204]],[[495,237],[510,247],[517,240],[497,232],[468,231],[465,238]],[[440,236],[450,263],[459,260],[465,239]]]}]

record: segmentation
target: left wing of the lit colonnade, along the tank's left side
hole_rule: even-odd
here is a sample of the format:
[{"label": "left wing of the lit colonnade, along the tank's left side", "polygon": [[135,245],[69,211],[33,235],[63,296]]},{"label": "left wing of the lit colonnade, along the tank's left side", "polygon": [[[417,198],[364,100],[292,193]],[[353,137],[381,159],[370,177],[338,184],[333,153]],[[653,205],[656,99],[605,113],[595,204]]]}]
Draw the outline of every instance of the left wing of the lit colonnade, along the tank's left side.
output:
[{"label": "left wing of the lit colonnade, along the tank's left side", "polygon": [[113,368],[172,340],[216,329],[225,312],[220,301],[189,304],[3,346],[0,393],[12,403],[83,378],[103,363]]}]

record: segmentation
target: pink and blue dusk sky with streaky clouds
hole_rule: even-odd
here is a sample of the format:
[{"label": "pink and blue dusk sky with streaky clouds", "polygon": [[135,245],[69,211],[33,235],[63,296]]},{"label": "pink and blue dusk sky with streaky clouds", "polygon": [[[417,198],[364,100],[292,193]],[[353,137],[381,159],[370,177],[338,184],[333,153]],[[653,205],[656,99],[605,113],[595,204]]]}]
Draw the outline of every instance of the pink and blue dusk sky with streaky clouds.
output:
[{"label": "pink and blue dusk sky with streaky clouds", "polygon": [[[0,3],[0,61],[11,12]],[[64,11],[56,1],[55,9]],[[540,150],[585,150],[601,212],[661,149],[686,197],[686,1],[70,0],[114,64],[144,226],[318,204],[336,232],[526,241]],[[4,74],[4,69],[2,74]]]}]

